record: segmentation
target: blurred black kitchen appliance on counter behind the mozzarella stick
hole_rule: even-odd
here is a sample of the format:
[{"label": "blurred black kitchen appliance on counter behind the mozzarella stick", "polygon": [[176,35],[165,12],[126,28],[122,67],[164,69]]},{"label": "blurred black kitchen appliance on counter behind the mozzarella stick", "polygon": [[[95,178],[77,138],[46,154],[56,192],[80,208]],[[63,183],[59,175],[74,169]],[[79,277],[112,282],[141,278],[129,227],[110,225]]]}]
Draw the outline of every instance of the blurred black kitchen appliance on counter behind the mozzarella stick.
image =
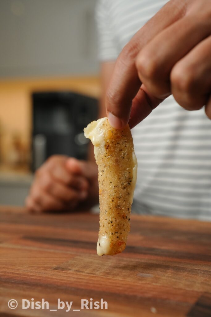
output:
[{"label": "blurred black kitchen appliance on counter behind the mozzarella stick", "polygon": [[53,154],[87,159],[84,127],[96,120],[98,100],[72,92],[32,94],[32,170]]}]

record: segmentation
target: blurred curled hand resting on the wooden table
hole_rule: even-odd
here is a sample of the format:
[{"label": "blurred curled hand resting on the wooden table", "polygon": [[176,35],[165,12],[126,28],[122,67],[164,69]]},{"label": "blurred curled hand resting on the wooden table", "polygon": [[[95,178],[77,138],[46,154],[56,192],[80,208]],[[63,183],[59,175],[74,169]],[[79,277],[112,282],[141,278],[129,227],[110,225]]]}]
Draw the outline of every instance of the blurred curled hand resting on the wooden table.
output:
[{"label": "blurred curled hand resting on the wooden table", "polygon": [[98,201],[97,165],[53,155],[36,172],[26,198],[29,211],[73,210]]}]

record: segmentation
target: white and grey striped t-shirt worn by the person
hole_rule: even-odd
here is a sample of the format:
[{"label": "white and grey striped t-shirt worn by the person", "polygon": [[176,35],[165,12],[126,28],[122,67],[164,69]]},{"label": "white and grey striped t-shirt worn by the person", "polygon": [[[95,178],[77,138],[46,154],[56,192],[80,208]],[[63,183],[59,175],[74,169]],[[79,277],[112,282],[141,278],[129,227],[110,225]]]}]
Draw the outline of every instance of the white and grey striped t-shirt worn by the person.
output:
[{"label": "white and grey striped t-shirt worn by the person", "polygon": [[[99,59],[115,60],[124,45],[167,1],[99,0]],[[211,121],[172,96],[132,130],[138,159],[133,210],[211,220]]]}]

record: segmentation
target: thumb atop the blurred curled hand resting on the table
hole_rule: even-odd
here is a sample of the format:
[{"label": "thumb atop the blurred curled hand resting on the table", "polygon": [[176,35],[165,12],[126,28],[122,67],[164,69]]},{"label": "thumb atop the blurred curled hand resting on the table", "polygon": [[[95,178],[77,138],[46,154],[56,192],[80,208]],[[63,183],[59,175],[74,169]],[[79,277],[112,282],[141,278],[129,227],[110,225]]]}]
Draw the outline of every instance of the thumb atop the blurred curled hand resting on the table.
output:
[{"label": "thumb atop the blurred curled hand resting on the table", "polygon": [[71,173],[84,176],[88,179],[97,177],[97,165],[94,162],[69,158],[66,161],[66,168]]}]

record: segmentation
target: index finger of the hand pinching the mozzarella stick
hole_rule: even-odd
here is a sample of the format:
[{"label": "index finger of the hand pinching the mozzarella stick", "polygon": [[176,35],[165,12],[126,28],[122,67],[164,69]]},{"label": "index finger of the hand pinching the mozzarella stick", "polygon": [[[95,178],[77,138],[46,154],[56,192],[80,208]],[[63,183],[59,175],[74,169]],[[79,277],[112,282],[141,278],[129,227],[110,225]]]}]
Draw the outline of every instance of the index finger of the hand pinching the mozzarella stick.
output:
[{"label": "index finger of the hand pinching the mozzarella stick", "polygon": [[[185,3],[171,0],[133,36],[121,51],[116,60],[106,96],[106,112],[111,126],[120,129],[129,121],[132,100],[141,86],[135,66],[137,54],[159,32],[183,17],[184,14]],[[141,95],[145,97],[145,103],[149,100],[151,109],[157,106],[157,104],[153,104],[153,98],[150,96],[150,99],[146,98],[144,94],[139,95],[140,104],[142,103]]]}]

